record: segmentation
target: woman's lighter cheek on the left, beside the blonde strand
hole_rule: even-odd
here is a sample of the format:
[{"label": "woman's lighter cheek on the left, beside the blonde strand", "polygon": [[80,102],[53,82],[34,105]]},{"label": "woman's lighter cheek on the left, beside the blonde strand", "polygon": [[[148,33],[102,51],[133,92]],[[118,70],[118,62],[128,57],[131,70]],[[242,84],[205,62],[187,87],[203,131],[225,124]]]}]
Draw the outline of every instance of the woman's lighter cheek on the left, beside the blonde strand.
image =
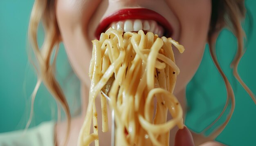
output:
[{"label": "woman's lighter cheek on the left, beside the blonde strand", "polygon": [[88,22],[100,0],[57,0],[56,19],[70,64],[83,82],[88,82],[92,42]]}]

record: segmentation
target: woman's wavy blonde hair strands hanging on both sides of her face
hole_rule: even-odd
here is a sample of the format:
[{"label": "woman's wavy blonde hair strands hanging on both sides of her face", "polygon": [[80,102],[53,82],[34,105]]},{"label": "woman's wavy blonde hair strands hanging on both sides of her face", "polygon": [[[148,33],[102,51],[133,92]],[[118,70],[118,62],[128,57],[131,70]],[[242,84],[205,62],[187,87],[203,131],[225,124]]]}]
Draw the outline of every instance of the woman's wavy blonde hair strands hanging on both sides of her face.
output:
[{"label": "woman's wavy blonde hair strands hanging on both sides of her face", "polygon": [[[245,12],[246,9],[244,0],[212,0],[212,15],[210,29],[208,33],[209,50],[211,58],[225,82],[227,90],[227,100],[222,113],[209,127],[215,124],[218,121],[218,119],[223,115],[223,113],[227,109],[227,105],[229,104],[230,100],[231,111],[229,112],[229,115],[225,122],[221,126],[219,126],[208,138],[204,139],[200,143],[205,142],[207,140],[215,139],[223,131],[225,126],[227,126],[227,123],[231,119],[231,116],[234,112],[234,92],[231,84],[229,83],[229,80],[227,79],[225,73],[222,71],[220,64],[218,63],[218,60],[216,58],[216,39],[218,37],[218,34],[224,27],[228,27],[234,33],[238,42],[236,56],[233,62],[231,63],[234,77],[236,77],[238,82],[240,82],[243,88],[245,88],[247,93],[252,97],[252,99],[256,103],[256,100],[254,98],[255,95],[246,86],[246,84],[243,82],[243,80],[241,80],[240,76],[238,75],[238,64],[244,54],[243,39],[245,38],[245,33],[241,26],[241,21],[245,18]],[[37,40],[38,25],[40,22],[43,23],[43,28],[45,30],[45,39],[41,47],[38,46]],[[49,90],[49,92],[55,98],[56,102],[61,104],[63,110],[65,111],[65,114],[67,116],[67,141],[67,137],[70,133],[71,123],[70,108],[65,98],[65,95],[55,77],[55,58],[56,54],[58,53],[58,46],[61,42],[61,34],[56,21],[55,0],[35,0],[33,9],[31,11],[28,34],[29,40],[31,42],[31,48],[34,51],[36,62],[38,64],[38,66],[35,66],[36,71],[38,73],[38,82],[36,84],[34,92],[32,93],[31,113],[33,113],[33,102],[36,96],[36,91],[38,90],[38,87],[40,86],[41,82],[43,82]],[[54,51],[54,49],[56,50]],[[51,61],[52,56],[54,57],[53,61]],[[31,121],[31,116],[27,126]]]}]

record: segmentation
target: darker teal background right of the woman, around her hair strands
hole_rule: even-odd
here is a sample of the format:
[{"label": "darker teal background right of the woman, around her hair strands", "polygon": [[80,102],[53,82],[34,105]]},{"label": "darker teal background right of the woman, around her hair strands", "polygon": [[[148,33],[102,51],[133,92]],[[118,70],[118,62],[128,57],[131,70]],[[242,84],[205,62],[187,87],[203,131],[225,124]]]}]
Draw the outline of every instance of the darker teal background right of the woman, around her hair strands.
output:
[{"label": "darker teal background right of the woman, around her hair strands", "polygon": [[[245,3],[248,11],[243,23],[247,35],[246,52],[240,61],[238,72],[247,86],[256,94],[256,1],[245,0]],[[217,137],[217,141],[230,146],[255,146],[256,105],[236,81],[230,68],[230,63],[236,53],[236,43],[235,36],[229,30],[224,29],[216,44],[218,61],[231,82],[236,97],[233,116],[225,130]],[[206,46],[197,73],[187,86],[186,95],[189,108],[186,125],[193,131],[201,132],[218,117],[226,102],[225,84],[211,60],[208,46]],[[224,122],[227,113],[213,128]]]}]

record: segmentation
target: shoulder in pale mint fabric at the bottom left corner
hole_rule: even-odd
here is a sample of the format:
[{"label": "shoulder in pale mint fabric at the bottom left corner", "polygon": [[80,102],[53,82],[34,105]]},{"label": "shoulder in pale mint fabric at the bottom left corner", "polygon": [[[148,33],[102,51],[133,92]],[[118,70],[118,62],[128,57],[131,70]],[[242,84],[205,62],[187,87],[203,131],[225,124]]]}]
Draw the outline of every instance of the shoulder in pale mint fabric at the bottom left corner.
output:
[{"label": "shoulder in pale mint fabric at the bottom left corner", "polygon": [[53,146],[54,122],[42,124],[28,130],[0,133],[0,145],[2,146]]}]

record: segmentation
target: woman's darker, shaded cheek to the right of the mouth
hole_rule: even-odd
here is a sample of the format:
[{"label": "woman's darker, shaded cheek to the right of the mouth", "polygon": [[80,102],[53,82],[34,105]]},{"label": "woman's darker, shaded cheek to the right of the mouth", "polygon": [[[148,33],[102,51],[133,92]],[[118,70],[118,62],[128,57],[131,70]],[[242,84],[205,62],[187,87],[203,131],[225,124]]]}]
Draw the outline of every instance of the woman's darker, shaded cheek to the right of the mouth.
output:
[{"label": "woman's darker, shaded cheek to the right of the mouth", "polygon": [[188,84],[198,69],[207,42],[211,18],[211,0],[170,0],[170,7],[180,21],[180,38],[184,45],[183,54],[176,53],[176,63],[180,68],[176,91]]}]

